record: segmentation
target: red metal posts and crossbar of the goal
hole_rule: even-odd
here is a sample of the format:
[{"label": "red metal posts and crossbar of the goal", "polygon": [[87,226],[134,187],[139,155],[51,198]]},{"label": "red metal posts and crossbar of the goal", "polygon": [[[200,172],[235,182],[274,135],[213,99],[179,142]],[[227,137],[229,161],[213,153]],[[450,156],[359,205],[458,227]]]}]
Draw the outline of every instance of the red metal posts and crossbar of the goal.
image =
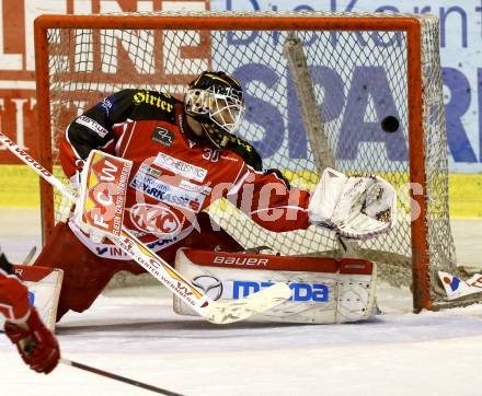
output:
[{"label": "red metal posts and crossbar of the goal", "polygon": [[[312,31],[392,31],[405,32],[408,42],[408,110],[409,110],[409,148],[410,182],[423,186],[426,190],[425,148],[423,130],[422,96],[422,27],[415,18],[380,16],[219,16],[199,18],[194,15],[42,15],[35,20],[35,65],[38,115],[38,152],[41,163],[53,171],[51,125],[48,79],[48,28],[128,28],[128,30],[312,30]],[[43,241],[51,234],[55,225],[53,187],[41,180],[41,205]],[[417,203],[420,214],[412,220],[412,273],[413,303],[415,312],[431,310],[429,257],[426,222],[426,196],[414,195],[411,199]],[[412,205],[414,213],[414,205]]]}]

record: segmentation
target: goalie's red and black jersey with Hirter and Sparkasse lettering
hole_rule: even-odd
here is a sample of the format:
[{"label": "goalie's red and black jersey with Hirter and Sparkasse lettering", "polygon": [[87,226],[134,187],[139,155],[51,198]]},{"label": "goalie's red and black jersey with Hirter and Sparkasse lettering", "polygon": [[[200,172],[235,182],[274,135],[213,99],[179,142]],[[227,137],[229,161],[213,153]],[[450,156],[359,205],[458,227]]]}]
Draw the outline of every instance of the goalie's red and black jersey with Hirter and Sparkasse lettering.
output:
[{"label": "goalie's red and black jersey with Hirter and Sparkasse lettering", "polygon": [[133,161],[125,226],[153,251],[187,236],[196,216],[222,197],[267,230],[308,228],[309,193],[290,188],[278,171],[263,172],[250,143],[233,136],[218,150],[193,137],[181,102],[160,92],[125,90],[68,126],[60,160],[69,177],[93,149]]}]

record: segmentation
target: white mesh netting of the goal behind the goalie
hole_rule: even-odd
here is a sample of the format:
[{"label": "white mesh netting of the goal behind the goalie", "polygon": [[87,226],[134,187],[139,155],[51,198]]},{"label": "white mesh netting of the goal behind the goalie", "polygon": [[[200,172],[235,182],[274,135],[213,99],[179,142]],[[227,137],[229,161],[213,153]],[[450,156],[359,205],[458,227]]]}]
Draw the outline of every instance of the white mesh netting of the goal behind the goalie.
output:
[{"label": "white mesh netting of the goal behind the goalie", "polygon": [[[431,269],[449,269],[456,260],[448,218],[438,24],[435,19],[422,18],[422,26],[424,136],[415,138],[424,139],[426,151],[426,237]],[[348,174],[380,174],[399,191],[400,213],[394,230],[352,245],[349,254],[381,263],[383,277],[397,284],[410,284],[406,34],[298,30],[294,35],[302,43],[314,106],[319,108],[335,167]],[[246,117],[240,135],[259,150],[264,166],[279,168],[292,185],[311,189],[319,179],[313,158],[317,147],[307,135],[283,54],[287,37],[284,31],[49,30],[56,164],[57,140],[66,125],[103,97],[126,88],[162,90],[182,97],[188,81],[203,70],[213,69],[231,73],[242,82]],[[393,119],[399,123],[398,128],[390,124]],[[283,255],[343,253],[335,235],[328,231],[310,228],[267,232],[226,201],[215,203],[208,211],[245,247],[269,246]]]}]

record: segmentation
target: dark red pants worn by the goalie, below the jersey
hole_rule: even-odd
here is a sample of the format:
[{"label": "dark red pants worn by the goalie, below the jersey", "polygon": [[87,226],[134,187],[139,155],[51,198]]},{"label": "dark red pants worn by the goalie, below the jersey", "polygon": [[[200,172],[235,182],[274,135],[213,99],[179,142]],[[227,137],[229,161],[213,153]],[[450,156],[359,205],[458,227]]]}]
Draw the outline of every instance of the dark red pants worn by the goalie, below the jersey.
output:
[{"label": "dark red pants worn by the goalie, below the jersey", "polygon": [[[222,230],[214,231],[207,213],[197,218],[199,231],[194,230],[184,240],[171,245],[158,255],[174,266],[175,254],[181,247],[205,251],[238,252],[242,246]],[[66,223],[58,223],[34,266],[64,270],[64,283],[57,310],[57,322],[69,311],[83,312],[118,271],[134,275],[146,272],[134,260],[101,258],[87,248]]]}]

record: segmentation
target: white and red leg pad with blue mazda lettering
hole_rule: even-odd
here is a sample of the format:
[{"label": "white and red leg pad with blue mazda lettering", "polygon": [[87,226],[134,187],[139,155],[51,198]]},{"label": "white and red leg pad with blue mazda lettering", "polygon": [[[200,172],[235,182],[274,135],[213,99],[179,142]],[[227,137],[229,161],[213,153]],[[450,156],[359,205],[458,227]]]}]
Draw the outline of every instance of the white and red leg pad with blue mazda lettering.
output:
[{"label": "white and red leg pad with blue mazda lettering", "polygon": [[[360,259],[177,251],[175,268],[213,300],[236,300],[275,282],[292,295],[255,321],[333,324],[365,321],[376,312],[377,271]],[[179,298],[174,312],[195,315]]]}]

